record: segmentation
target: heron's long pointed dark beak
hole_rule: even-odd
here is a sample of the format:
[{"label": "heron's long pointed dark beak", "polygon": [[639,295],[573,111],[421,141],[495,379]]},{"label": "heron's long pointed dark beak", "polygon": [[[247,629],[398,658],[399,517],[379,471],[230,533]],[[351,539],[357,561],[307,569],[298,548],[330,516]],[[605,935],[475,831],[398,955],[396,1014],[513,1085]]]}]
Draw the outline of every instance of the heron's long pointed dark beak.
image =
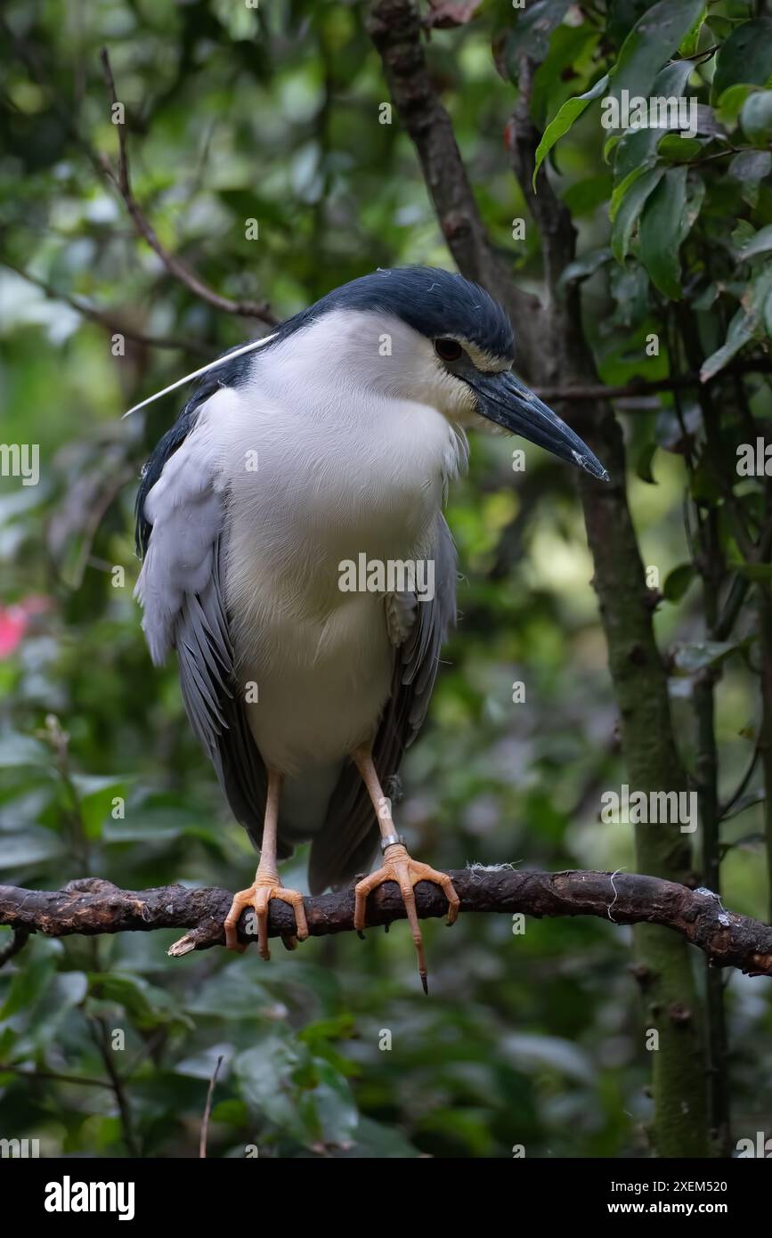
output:
[{"label": "heron's long pointed dark beak", "polygon": [[546,447],[553,456],[578,464],[601,482],[609,480],[605,468],[579,435],[511,371],[478,373],[468,381],[476,392],[478,411],[489,421],[497,422],[510,433],[521,435],[538,447]]}]

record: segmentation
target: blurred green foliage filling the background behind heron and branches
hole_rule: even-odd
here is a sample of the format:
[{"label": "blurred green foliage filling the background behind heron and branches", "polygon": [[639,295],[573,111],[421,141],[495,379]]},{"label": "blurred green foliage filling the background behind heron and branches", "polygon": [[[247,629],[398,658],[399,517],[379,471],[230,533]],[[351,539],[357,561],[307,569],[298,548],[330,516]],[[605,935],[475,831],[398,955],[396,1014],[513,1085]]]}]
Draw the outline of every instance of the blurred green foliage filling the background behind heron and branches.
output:
[{"label": "blurred green foliage filling the background behind heron and branches", "polygon": [[[539,0],[523,12],[485,0],[428,45],[486,224],[536,290],[536,230],[511,240],[526,208],[506,141],[520,57],[542,62],[533,116],[580,234],[569,277],[585,281],[586,329],[615,385],[693,366],[683,313],[710,373],[772,334],[772,19],[744,0],[653,7],[642,32],[646,0]],[[267,297],[285,316],[375,266],[448,255],[397,118],[379,123],[387,92],[364,5],[10,0],[5,14],[4,261],[127,331],[189,347],[126,335],[116,357],[111,329],[0,275],[2,439],[37,443],[41,457],[38,485],[0,479],[0,877],[241,889],[249,842],[200,758],[173,666],[151,667],[131,598],[136,477],[178,401],[119,415],[262,328],[197,300],[134,235],[100,167],[118,152],[100,47],[126,109],[137,201],[219,292]],[[610,136],[598,100],[622,85],[688,90],[694,140]],[[568,102],[586,93],[584,108]],[[245,235],[252,218],[259,240]],[[662,347],[650,357],[651,333]],[[756,530],[763,487],[740,484],[734,458],[772,400],[763,378],[740,386],[741,420],[720,433],[734,501]],[[657,630],[678,650],[677,734],[693,770],[692,692],[715,666],[729,800],[758,738],[753,610],[721,649],[704,644],[684,491],[720,522],[719,587],[731,565],[752,567],[708,463],[687,467],[694,399],[621,407],[643,562],[664,594]],[[478,438],[450,496],[461,621],[403,769],[400,825],[438,867],[630,867],[631,828],[599,821],[601,791],[625,771],[574,479],[536,452],[527,473],[511,459],[506,441]],[[755,571],[763,583],[768,569]],[[755,774],[723,827],[725,903],[757,917],[761,794]],[[287,884],[303,888],[304,860],[287,864]],[[35,937],[2,969],[2,1136],[37,1136],[48,1155],[194,1156],[221,1057],[212,1156],[501,1158],[517,1144],[527,1156],[646,1154],[648,1055],[625,928],[567,919],[516,935],[506,917],[461,916],[445,933],[428,922],[428,1002],[403,925],[365,943],[277,947],[270,964],[252,951],[172,962],[174,936]],[[772,1014],[762,980],[732,974],[726,992],[736,1134],[752,1134],[772,1099]]]}]

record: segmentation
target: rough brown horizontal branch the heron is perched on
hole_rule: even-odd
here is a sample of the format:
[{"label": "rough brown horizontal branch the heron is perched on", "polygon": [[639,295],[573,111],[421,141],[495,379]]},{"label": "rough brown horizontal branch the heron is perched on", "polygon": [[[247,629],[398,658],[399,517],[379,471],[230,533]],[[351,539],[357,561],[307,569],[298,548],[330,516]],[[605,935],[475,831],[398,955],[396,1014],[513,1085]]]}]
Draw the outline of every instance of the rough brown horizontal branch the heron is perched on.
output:
[{"label": "rough brown horizontal branch the heron is perched on", "polygon": [[[715,967],[772,977],[772,927],[725,911],[710,890],[690,890],[676,881],[635,873],[536,873],[516,872],[507,865],[458,869],[450,877],[461,911],[525,912],[537,919],[598,916],[614,925],[662,925],[701,950]],[[445,896],[435,885],[419,883],[416,896],[422,919],[443,916],[448,910]],[[169,954],[179,957],[225,943],[223,924],[231,899],[228,890],[218,888],[191,890],[168,885],[120,890],[99,878],[71,881],[62,890],[0,885],[0,924],[48,937],[187,928],[186,936],[169,950]],[[304,903],[312,937],[350,932],[354,927],[353,886]],[[239,922],[242,942],[255,940],[247,917],[246,911]],[[370,895],[369,927],[403,919],[402,895],[393,881]],[[286,937],[293,930],[292,907],[272,900],[268,936]]]}]

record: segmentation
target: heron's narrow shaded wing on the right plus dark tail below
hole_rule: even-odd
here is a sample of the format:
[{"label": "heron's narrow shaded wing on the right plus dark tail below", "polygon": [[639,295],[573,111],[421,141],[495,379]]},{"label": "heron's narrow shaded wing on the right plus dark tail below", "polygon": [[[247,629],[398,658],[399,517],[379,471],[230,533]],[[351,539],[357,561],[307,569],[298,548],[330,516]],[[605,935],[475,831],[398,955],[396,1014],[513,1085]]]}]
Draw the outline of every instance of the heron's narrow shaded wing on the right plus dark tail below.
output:
[{"label": "heron's narrow shaded wing on the right plus dark tail below", "polygon": [[[384,708],[372,747],[381,785],[393,777],[405,749],[423,725],[448,628],[455,623],[455,546],[444,516],[438,516],[429,557],[434,558],[435,593],[432,602],[401,598],[403,619],[412,623],[395,650],[391,696]],[[314,838],[308,865],[312,894],[332,885],[339,889],[369,870],[379,844],[375,810],[356,766],[346,761],[330,796],[322,832]]]}]

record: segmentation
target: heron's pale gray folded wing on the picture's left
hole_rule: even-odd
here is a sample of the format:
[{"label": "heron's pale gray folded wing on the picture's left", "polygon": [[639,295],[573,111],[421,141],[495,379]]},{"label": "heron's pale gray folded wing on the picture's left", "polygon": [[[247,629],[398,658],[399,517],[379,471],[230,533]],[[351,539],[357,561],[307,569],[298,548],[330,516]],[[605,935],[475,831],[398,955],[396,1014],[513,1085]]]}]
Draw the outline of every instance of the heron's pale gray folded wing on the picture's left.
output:
[{"label": "heron's pale gray folded wing on the picture's left", "polygon": [[157,464],[157,480],[137,503],[146,546],[136,587],[142,628],[156,665],[176,650],[191,725],[234,816],[260,846],[267,777],[235,688],[220,577],[223,495],[199,426],[189,427],[160,472]]}]

